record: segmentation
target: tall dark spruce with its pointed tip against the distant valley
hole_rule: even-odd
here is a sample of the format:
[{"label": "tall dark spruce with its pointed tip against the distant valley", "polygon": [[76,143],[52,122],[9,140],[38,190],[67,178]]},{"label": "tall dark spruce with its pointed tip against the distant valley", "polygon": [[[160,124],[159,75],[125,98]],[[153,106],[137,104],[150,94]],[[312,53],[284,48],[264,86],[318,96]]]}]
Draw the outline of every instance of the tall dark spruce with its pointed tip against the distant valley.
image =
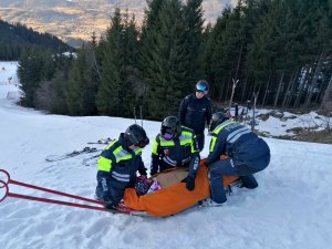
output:
[{"label": "tall dark spruce with its pointed tip against the distant valley", "polygon": [[116,9],[106,39],[100,42],[101,85],[97,108],[101,114],[133,117],[143,101],[138,72],[138,30],[135,17]]}]

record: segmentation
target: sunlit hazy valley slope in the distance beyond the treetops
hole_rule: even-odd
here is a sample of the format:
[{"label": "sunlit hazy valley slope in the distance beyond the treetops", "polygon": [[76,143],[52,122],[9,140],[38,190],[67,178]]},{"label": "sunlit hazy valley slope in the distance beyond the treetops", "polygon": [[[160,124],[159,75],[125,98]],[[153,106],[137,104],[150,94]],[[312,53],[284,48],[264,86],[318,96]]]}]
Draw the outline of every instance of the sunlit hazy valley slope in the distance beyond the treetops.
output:
[{"label": "sunlit hazy valley slope in the distance beyond the treetops", "polygon": [[[235,0],[204,0],[205,19],[215,22],[226,4]],[[49,32],[69,44],[91,40],[106,31],[114,8],[128,9],[138,22],[144,15],[145,0],[1,0],[0,17],[9,22],[21,22],[39,32]]]}]

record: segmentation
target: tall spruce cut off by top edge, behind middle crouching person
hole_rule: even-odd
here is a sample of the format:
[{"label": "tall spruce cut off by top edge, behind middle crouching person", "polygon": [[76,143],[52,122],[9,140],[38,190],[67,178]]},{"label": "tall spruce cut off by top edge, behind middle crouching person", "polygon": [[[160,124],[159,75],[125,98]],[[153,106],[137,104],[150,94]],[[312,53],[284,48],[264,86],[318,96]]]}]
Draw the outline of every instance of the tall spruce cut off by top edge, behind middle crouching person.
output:
[{"label": "tall spruce cut off by top edge, behind middle crouching person", "polygon": [[154,117],[175,115],[184,97],[188,79],[186,24],[183,6],[178,0],[165,1],[159,12],[160,29],[156,46],[152,48],[155,72],[151,81],[149,111]]}]

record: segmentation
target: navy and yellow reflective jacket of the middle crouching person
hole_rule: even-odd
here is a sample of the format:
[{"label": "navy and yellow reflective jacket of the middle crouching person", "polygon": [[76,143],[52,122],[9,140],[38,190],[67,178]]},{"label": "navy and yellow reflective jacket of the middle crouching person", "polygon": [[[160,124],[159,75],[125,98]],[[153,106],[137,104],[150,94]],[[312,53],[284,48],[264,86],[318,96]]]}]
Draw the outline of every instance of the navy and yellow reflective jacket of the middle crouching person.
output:
[{"label": "navy and yellow reflective jacket of the middle crouching person", "polygon": [[158,134],[153,142],[151,175],[172,167],[189,165],[189,176],[195,177],[199,163],[197,147],[194,131],[185,126],[181,126],[180,135],[170,141]]}]

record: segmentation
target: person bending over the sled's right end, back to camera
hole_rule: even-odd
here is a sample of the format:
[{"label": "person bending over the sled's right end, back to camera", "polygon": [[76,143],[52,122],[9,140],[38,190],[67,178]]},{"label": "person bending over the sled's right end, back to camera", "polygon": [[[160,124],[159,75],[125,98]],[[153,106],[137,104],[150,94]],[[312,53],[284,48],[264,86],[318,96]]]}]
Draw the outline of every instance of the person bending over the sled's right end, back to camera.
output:
[{"label": "person bending over the sled's right end, back to camera", "polygon": [[[267,143],[243,125],[230,121],[224,113],[212,114],[209,132],[212,136],[206,160],[211,189],[210,206],[227,200],[224,176],[239,176],[242,187],[256,188],[252,174],[263,170],[270,163]],[[220,159],[221,155],[228,158]],[[208,206],[208,205],[207,205]]]}]

